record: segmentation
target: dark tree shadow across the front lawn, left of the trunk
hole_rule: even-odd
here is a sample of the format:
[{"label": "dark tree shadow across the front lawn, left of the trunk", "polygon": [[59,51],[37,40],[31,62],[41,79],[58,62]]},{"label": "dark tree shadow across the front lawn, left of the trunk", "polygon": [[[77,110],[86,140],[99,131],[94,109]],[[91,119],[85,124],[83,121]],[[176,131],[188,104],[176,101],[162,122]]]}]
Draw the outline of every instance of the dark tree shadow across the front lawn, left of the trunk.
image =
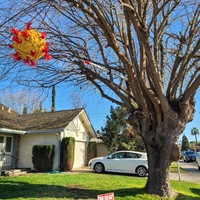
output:
[{"label": "dark tree shadow across the front lawn, left of the trunk", "polygon": [[144,194],[142,188],[124,188],[118,190],[94,190],[84,188],[83,185],[28,184],[25,182],[4,181],[0,183],[0,199],[17,198],[69,198],[69,199],[97,199],[97,195],[114,192],[117,197]]}]

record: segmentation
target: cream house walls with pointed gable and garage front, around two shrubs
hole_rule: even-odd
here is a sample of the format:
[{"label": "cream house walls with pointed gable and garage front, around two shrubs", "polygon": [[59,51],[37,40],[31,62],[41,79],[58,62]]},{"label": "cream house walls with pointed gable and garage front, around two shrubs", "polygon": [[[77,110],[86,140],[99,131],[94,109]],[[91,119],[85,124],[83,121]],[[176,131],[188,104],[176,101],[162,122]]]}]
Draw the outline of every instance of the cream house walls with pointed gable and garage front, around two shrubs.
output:
[{"label": "cream house walls with pointed gable and garage front, around two shrubs", "polygon": [[[60,137],[60,138],[59,138]],[[59,139],[60,141],[64,137],[75,138],[75,156],[73,168],[78,168],[87,165],[87,146],[90,140],[87,127],[84,124],[83,119],[81,120],[78,116],[68,124],[63,132],[56,133],[45,133],[45,134],[25,134],[20,139],[20,151],[19,151],[19,168],[33,169],[32,164],[32,147],[34,145],[53,144],[55,145],[55,157],[54,157],[54,170],[59,169],[59,157],[60,152]]]}]

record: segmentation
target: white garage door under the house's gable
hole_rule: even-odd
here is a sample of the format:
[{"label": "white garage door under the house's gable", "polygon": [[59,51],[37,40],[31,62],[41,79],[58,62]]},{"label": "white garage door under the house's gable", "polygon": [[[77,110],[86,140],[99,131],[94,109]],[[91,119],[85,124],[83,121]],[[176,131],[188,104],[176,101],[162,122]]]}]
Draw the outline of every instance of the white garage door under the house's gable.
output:
[{"label": "white garage door under the house's gable", "polygon": [[73,168],[83,167],[86,165],[86,143],[85,142],[75,142],[75,156],[74,156],[74,166]]}]

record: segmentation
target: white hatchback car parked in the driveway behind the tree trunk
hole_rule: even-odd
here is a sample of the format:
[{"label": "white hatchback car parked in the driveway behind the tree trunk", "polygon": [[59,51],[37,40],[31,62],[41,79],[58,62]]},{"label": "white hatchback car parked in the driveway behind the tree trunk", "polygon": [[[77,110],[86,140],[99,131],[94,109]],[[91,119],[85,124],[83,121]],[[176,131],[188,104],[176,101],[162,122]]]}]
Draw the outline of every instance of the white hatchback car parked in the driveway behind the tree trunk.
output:
[{"label": "white hatchback car parked in the driveway behind the tree trunk", "polygon": [[141,177],[148,173],[147,154],[137,151],[117,151],[105,157],[93,158],[88,165],[96,173],[131,173]]}]

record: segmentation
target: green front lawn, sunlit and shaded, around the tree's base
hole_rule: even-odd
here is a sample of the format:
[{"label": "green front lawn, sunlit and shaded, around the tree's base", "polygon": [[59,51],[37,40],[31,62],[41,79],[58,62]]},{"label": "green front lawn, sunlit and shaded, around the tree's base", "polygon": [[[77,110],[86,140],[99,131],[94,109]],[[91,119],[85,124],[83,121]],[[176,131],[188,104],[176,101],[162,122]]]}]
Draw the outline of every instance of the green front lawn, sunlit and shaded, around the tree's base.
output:
[{"label": "green front lawn, sunlit and shaded, around the tree's base", "polygon": [[[160,200],[144,190],[147,178],[95,173],[28,174],[0,177],[0,199],[55,200],[97,199],[114,192],[115,200]],[[171,181],[176,200],[199,199],[200,184]]]}]

